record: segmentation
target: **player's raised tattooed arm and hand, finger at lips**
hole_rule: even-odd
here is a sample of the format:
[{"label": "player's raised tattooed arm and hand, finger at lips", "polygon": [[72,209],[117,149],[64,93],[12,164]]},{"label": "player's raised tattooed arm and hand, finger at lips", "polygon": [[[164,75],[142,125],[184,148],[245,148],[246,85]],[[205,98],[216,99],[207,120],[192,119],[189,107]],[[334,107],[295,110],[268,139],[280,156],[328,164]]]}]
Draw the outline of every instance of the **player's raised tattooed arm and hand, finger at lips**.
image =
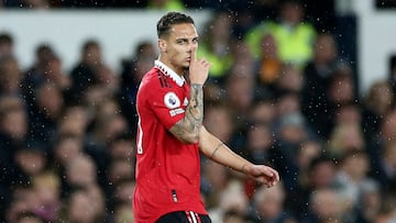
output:
[{"label": "player's raised tattooed arm and hand, finger at lips", "polygon": [[197,143],[204,121],[204,83],[208,78],[210,64],[196,59],[197,48],[191,51],[189,66],[190,96],[185,116],[169,129],[170,133],[184,143]]}]

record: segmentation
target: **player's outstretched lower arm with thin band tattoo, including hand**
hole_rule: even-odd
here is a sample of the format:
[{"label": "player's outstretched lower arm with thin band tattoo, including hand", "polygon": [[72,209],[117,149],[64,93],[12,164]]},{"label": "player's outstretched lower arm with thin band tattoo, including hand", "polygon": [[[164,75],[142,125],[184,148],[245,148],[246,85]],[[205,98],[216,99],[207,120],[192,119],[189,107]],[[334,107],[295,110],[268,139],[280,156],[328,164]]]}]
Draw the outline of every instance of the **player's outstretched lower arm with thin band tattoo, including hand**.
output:
[{"label": "player's outstretched lower arm with thin band tattoo, including hand", "polygon": [[279,175],[275,169],[265,165],[254,165],[239,156],[219,138],[209,133],[205,126],[200,129],[199,148],[208,158],[253,177],[267,187],[272,187],[279,181]]}]

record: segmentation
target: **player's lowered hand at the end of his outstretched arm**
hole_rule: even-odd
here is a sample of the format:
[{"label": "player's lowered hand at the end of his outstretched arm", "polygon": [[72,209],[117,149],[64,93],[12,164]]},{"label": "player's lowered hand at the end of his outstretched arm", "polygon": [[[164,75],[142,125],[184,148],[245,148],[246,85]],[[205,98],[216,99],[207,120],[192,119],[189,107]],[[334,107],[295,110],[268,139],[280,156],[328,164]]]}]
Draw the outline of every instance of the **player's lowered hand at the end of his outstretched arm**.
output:
[{"label": "player's lowered hand at the end of his outstretched arm", "polygon": [[244,172],[268,188],[279,182],[279,174],[265,165],[246,165]]}]

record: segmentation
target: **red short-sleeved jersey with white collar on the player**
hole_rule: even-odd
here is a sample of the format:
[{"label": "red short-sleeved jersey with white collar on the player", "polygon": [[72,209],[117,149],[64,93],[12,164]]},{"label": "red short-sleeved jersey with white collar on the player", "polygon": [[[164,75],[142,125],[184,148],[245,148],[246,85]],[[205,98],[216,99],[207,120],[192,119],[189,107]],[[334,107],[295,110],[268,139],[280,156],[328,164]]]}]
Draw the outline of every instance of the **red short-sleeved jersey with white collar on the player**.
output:
[{"label": "red short-sleeved jersey with white collar on the player", "polygon": [[153,223],[174,211],[207,214],[200,197],[198,144],[185,144],[168,130],[185,115],[189,86],[156,60],[136,97],[135,222]]}]

